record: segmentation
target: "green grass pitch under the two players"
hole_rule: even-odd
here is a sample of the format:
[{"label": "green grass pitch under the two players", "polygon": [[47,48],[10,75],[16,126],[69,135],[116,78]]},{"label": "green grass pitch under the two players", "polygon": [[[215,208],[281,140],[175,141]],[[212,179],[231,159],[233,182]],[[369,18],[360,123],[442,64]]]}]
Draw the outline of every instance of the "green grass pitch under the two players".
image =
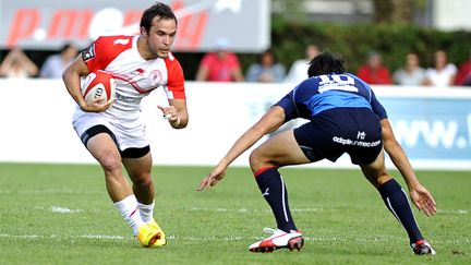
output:
[{"label": "green grass pitch under the two players", "polygon": [[168,245],[143,249],[98,166],[0,164],[0,264],[471,264],[471,172],[418,172],[438,204],[434,217],[414,208],[437,255],[414,256],[359,170],[306,168],[281,170],[304,249],[251,253],[263,227],[274,227],[268,205],[249,168],[230,168],[215,189],[195,192],[208,171],[154,168]]}]

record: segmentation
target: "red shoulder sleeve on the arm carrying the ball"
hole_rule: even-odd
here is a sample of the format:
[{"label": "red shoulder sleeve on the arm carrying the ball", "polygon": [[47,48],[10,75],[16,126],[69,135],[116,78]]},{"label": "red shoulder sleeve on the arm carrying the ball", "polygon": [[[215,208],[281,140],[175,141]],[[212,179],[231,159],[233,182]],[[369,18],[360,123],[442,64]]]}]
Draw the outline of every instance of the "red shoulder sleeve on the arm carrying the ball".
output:
[{"label": "red shoulder sleeve on the arm carrying the ball", "polygon": [[85,63],[90,72],[106,69],[119,53],[132,48],[134,36],[101,36],[93,44],[95,57],[86,60]]}]

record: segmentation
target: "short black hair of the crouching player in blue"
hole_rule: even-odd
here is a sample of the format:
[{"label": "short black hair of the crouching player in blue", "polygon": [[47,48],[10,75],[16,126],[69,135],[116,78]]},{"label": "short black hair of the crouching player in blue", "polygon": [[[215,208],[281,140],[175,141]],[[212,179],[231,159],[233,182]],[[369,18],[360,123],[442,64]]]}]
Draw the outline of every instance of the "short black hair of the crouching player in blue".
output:
[{"label": "short black hair of the crouching player in blue", "polygon": [[346,72],[343,59],[330,51],[324,51],[314,57],[307,69],[307,76],[317,76],[323,74],[341,74]]}]

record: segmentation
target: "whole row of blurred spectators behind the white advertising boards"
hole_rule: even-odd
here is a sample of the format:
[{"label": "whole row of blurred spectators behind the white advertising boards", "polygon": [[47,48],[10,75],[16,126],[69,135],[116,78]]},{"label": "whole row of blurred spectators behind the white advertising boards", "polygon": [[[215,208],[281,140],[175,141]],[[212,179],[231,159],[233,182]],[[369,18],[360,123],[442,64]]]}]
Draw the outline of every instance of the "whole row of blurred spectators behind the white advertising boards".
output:
[{"label": "whole row of blurred spectators behind the white advertising boards", "polygon": [[[315,44],[307,45],[304,57],[286,68],[269,48],[258,55],[245,72],[238,55],[230,49],[230,44],[218,39],[214,50],[204,55],[200,61],[195,81],[208,82],[262,82],[262,83],[300,83],[307,77],[309,62],[321,51]],[[13,48],[4,58],[0,58],[1,77],[44,77],[60,79],[62,71],[78,53],[78,48],[65,44],[58,53],[51,55],[37,67],[20,48]],[[468,59],[460,65],[448,61],[447,51],[438,49],[433,55],[433,65],[424,68],[416,52],[404,55],[403,65],[391,71],[382,60],[382,55],[371,50],[353,74],[372,85],[408,86],[471,86],[471,50]]]}]

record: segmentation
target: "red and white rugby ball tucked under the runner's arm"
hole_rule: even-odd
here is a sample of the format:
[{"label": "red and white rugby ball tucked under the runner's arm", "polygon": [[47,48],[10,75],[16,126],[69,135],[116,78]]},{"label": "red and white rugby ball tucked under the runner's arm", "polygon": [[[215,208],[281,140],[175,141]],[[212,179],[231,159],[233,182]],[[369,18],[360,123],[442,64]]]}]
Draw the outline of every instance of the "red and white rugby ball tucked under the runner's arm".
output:
[{"label": "red and white rugby ball tucked under the runner's arm", "polygon": [[89,73],[82,84],[82,95],[85,101],[94,98],[102,98],[102,101],[108,101],[114,98],[114,91],[116,80],[110,73],[101,70]]}]

